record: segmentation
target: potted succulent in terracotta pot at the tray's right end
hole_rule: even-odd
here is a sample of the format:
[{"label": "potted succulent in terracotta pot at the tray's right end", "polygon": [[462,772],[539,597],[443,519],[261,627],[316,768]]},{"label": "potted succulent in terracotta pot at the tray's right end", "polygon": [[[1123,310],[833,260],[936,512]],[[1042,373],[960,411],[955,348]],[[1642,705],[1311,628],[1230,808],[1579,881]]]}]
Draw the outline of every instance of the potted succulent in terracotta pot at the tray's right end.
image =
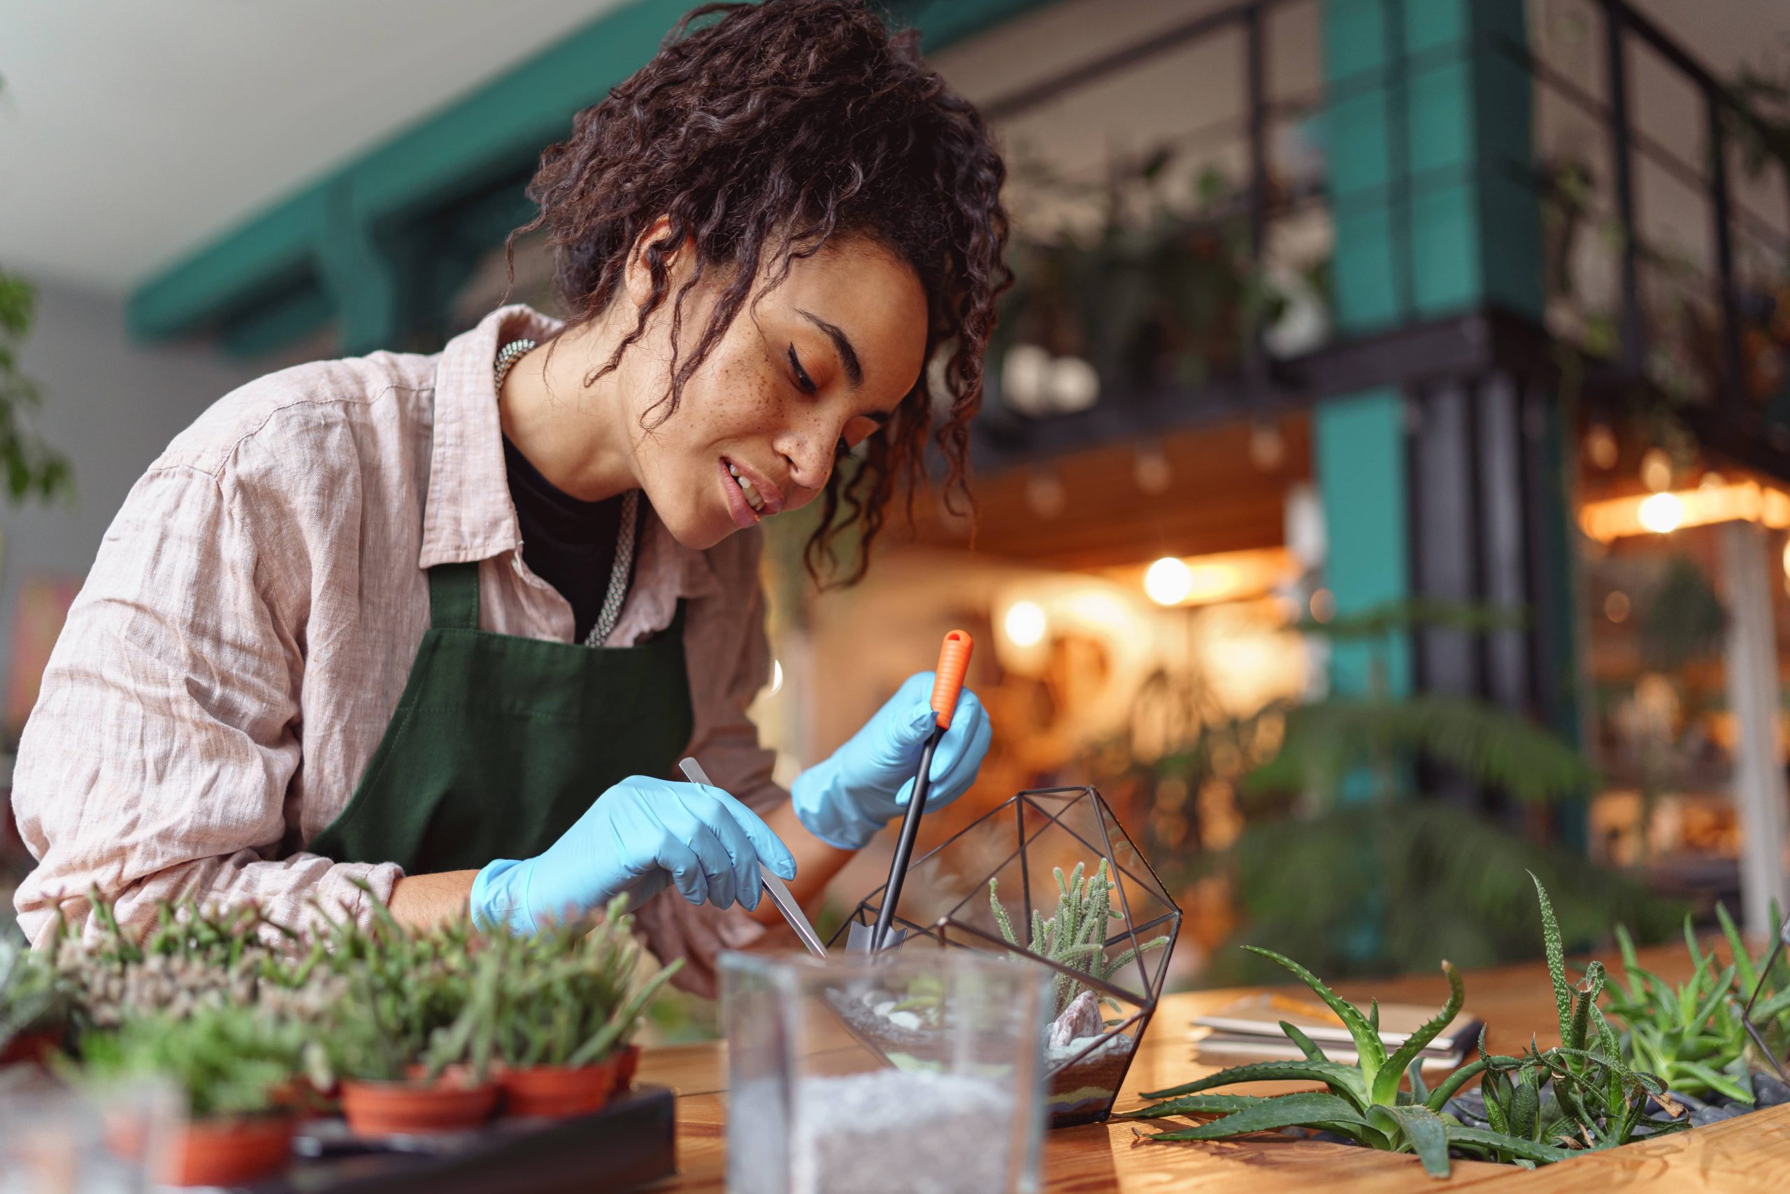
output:
[{"label": "potted succulent in terracotta pot at the tray's right end", "polygon": [[625,908],[618,897],[596,924],[494,938],[505,958],[498,1083],[510,1115],[587,1115],[632,1079],[639,1051],[626,1038],[682,961],[630,992],[641,949]]}]

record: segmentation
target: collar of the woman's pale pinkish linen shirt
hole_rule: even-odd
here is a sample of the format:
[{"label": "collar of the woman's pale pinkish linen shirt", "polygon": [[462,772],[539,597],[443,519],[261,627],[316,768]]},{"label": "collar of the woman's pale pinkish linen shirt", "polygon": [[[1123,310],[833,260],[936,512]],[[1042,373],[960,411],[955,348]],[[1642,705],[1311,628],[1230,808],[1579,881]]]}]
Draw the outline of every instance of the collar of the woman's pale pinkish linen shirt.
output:
[{"label": "collar of the woman's pale pinkish linen shirt", "polygon": [[[435,365],[435,430],[419,567],[485,560],[523,544],[503,465],[494,362],[510,340],[546,340],[562,326],[523,304],[499,306],[442,349]],[[673,539],[657,512],[648,510],[641,530],[643,550],[628,594],[628,605],[641,609],[625,609],[623,621],[635,614],[664,625],[661,619],[669,619],[677,598],[720,593],[707,553]]]}]

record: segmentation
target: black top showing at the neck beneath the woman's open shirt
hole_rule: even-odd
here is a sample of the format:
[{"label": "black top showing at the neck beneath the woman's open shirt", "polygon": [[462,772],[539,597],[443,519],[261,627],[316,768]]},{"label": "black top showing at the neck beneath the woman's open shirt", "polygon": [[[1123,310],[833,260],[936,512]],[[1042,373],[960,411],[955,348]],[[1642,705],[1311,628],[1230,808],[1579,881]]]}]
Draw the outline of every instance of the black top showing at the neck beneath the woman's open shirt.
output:
[{"label": "black top showing at the neck beneath the woman's open shirt", "polygon": [[523,532],[523,562],[571,601],[573,643],[584,643],[603,609],[609,569],[621,535],[621,496],[580,501],[541,476],[510,437],[503,437],[503,467],[510,501]]}]

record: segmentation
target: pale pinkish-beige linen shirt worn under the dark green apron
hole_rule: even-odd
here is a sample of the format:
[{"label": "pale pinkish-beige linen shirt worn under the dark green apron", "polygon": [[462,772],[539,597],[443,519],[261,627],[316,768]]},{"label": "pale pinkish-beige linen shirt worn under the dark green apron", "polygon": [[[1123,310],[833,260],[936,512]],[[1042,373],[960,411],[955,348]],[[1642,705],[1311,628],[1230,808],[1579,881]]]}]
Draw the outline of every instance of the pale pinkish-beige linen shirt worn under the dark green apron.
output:
[{"label": "pale pinkish-beige linen shirt worn under the dark green apron", "polygon": [[[571,605],[523,564],[492,387],[499,344],[555,328],[508,306],[435,356],[270,374],[150,465],[106,532],[20,743],[13,809],[38,868],[14,902],[32,940],[57,908],[86,920],[90,888],[129,927],[150,924],[158,899],[252,899],[301,924],[313,899],[367,915],[356,879],[390,897],[396,865],[304,847],[347,806],[397,707],[430,623],[424,569],[480,560],[483,628],[573,637]],[[786,793],[745,714],[770,675],[761,535],[695,551],[657,517],[643,530],[610,643],[662,630],[686,600],[689,750],[764,809]],[[695,925],[668,899],[641,920],[666,959],[684,938],[712,951],[755,934],[745,917]]]}]

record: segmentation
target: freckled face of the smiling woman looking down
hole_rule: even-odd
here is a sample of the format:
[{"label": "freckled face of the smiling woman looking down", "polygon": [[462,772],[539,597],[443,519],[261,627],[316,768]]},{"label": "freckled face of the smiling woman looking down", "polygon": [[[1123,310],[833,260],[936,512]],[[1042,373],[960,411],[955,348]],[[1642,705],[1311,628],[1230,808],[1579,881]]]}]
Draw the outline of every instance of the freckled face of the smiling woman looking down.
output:
[{"label": "freckled face of the smiling woman looking down", "polygon": [[[634,303],[648,294],[644,272],[639,263],[628,270]],[[680,274],[673,263],[671,295]],[[686,301],[686,360],[723,285],[725,276],[705,279]],[[748,301],[684,385],[677,414],[659,422],[669,311],[668,297],[618,372],[635,478],[689,548],[813,501],[838,453],[877,431],[925,363],[920,279],[882,247],[852,238],[791,261],[775,290]]]}]

